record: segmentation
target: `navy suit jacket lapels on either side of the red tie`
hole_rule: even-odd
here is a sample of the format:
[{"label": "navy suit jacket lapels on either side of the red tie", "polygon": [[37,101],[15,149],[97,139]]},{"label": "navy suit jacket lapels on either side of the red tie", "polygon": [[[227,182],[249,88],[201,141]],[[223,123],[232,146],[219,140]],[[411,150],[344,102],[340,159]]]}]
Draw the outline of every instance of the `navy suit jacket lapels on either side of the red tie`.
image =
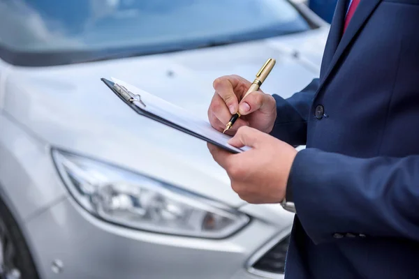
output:
[{"label": "navy suit jacket lapels on either side of the red tie", "polygon": [[[339,61],[340,57],[342,56],[348,45],[352,42],[358,31],[362,28],[365,22],[367,22],[369,16],[374,12],[375,8],[378,6],[378,3],[380,3],[381,1],[382,0],[361,0],[343,36],[341,36],[341,33],[343,32],[344,27],[346,5],[344,4],[345,0],[339,1],[340,7],[337,7],[336,13],[338,13],[339,11],[339,13],[341,13],[341,16],[337,16],[336,20],[338,20],[339,18],[340,22],[333,22],[334,24],[332,24],[332,27],[330,29],[330,36],[333,36],[332,42],[330,43],[330,48],[332,48],[334,44],[336,44],[335,40],[337,40],[338,42],[337,48],[335,54],[333,54],[332,61],[328,63],[327,70],[325,72],[325,75],[321,79],[321,84],[318,88],[318,91],[322,89],[323,85],[328,80],[330,73],[337,65],[337,62]],[[343,9],[343,12],[340,9]],[[340,42],[339,39],[341,39]]]}]

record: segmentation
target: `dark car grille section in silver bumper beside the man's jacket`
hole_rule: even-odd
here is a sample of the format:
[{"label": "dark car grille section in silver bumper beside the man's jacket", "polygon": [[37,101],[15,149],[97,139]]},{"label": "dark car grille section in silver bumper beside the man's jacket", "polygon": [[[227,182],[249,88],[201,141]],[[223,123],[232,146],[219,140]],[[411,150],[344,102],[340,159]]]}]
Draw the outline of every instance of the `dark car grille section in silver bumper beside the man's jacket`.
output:
[{"label": "dark car grille section in silver bumper beside the man's jacket", "polygon": [[286,238],[282,239],[277,245],[268,250],[265,255],[260,257],[260,259],[253,264],[253,269],[283,274],[285,269],[286,251],[288,250],[289,243],[290,236],[286,236]]}]

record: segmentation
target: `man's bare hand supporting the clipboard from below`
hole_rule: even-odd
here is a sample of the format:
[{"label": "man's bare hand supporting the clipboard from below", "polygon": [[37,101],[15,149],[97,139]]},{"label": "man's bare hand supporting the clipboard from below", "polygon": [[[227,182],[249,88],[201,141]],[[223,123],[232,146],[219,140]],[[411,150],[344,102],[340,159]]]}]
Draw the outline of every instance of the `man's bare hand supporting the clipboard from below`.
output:
[{"label": "man's bare hand supporting the clipboard from below", "polygon": [[208,144],[208,149],[230,177],[231,187],[251,204],[281,202],[297,150],[281,140],[247,126],[240,127],[229,144],[249,146],[249,151],[233,154]]}]

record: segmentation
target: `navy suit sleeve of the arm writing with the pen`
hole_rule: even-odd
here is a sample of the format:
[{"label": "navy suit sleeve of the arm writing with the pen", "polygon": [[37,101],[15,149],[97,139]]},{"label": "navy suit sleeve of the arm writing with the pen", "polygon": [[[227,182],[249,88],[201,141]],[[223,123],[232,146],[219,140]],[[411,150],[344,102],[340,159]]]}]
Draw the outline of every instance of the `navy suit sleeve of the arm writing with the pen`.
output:
[{"label": "navy suit sleeve of the arm writing with the pen", "polygon": [[270,135],[293,146],[306,144],[307,119],[317,89],[318,79],[314,79],[291,98],[272,95],[277,101],[277,120]]}]

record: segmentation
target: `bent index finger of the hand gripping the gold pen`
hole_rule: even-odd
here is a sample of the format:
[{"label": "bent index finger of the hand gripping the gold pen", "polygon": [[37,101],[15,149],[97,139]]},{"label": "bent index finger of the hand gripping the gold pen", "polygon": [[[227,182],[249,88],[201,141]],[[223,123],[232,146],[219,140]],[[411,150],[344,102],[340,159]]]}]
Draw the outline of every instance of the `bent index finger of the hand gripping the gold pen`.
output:
[{"label": "bent index finger of the hand gripping the gold pen", "polygon": [[239,101],[235,94],[234,88],[237,87],[238,79],[232,76],[219,77],[212,84],[216,93],[226,103],[230,114],[235,114],[239,107]]}]

